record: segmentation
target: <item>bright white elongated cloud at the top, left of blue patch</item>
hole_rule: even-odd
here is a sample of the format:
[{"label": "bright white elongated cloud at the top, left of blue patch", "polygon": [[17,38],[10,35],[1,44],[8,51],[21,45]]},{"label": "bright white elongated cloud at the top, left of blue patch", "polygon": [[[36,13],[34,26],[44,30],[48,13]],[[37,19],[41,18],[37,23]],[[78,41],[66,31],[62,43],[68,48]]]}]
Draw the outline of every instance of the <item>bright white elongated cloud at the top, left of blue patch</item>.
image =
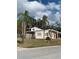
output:
[{"label": "bright white elongated cloud at the top, left of blue patch", "polygon": [[33,1],[33,2],[27,2],[24,4],[26,10],[28,11],[44,11],[46,9],[46,7],[41,4],[38,3],[37,1]]}]

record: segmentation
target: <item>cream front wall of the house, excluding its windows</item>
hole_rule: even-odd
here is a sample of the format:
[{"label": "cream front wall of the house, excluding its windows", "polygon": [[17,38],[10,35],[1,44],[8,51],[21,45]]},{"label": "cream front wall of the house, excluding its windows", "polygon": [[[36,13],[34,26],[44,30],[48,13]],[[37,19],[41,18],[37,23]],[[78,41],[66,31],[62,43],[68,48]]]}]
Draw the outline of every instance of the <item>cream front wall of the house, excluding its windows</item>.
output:
[{"label": "cream front wall of the house, excluding its windows", "polygon": [[[41,35],[38,36],[38,33],[41,33]],[[48,33],[48,35],[46,35],[46,33]],[[42,30],[42,31],[35,32],[35,39],[46,39],[46,37],[50,37],[51,39],[56,39],[56,33],[51,32],[51,35],[50,35],[49,30]]]}]

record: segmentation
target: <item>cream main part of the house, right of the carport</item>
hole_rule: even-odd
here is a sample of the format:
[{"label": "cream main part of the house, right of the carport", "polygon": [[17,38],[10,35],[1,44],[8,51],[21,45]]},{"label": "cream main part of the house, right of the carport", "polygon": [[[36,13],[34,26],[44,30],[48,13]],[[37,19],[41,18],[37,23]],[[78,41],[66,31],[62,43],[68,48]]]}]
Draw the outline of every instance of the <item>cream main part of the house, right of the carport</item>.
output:
[{"label": "cream main part of the house, right of the carport", "polygon": [[35,39],[46,39],[47,37],[60,39],[61,33],[53,29],[35,31]]}]

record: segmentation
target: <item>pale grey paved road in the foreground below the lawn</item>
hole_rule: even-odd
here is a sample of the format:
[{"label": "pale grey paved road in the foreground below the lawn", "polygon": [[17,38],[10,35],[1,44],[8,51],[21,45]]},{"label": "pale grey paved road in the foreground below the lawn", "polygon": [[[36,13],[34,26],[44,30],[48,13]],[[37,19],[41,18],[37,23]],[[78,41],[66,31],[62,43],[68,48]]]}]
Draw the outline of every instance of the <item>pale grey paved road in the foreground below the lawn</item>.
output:
[{"label": "pale grey paved road in the foreground below the lawn", "polygon": [[17,51],[17,59],[61,59],[61,47],[42,47]]}]

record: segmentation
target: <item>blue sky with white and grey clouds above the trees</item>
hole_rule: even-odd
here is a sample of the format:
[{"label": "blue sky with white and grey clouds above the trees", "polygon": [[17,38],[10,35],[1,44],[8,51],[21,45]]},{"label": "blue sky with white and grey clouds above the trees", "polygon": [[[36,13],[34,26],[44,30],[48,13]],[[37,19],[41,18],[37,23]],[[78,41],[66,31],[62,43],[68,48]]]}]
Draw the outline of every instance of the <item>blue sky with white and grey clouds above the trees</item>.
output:
[{"label": "blue sky with white and grey clouds above the trees", "polygon": [[34,19],[42,19],[46,15],[50,24],[61,22],[60,0],[17,0],[17,14],[25,10]]}]

